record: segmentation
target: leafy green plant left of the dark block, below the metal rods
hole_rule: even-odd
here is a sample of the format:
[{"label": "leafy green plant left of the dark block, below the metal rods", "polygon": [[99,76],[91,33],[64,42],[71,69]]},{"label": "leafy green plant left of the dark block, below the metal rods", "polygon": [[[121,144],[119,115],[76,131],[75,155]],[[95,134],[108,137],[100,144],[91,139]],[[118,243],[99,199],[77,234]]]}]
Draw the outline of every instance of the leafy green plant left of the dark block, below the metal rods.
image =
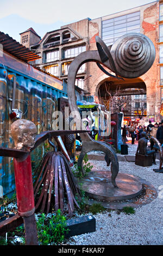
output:
[{"label": "leafy green plant left of the dark block, below the metal rods", "polygon": [[36,225],[38,239],[41,245],[61,243],[65,239],[65,233],[68,231],[66,228],[66,217],[61,214],[60,209],[51,218],[47,218],[42,213]]}]

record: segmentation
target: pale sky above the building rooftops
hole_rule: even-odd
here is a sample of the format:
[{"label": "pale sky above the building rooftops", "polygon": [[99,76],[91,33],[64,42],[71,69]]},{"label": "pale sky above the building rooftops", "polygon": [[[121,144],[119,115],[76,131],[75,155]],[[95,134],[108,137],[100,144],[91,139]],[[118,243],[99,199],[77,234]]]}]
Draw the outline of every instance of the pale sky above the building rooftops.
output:
[{"label": "pale sky above the building rooftops", "polygon": [[33,27],[41,36],[61,26],[91,20],[152,3],[150,0],[0,0],[0,31],[20,42],[20,33]]}]

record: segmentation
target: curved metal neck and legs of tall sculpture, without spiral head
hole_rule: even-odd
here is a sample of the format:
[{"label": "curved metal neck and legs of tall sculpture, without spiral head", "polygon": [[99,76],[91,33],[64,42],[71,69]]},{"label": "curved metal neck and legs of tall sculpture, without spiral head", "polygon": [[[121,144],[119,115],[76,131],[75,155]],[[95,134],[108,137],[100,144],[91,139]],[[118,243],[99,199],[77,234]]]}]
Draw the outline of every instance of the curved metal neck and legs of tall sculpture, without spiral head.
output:
[{"label": "curved metal neck and legs of tall sculpture, without spiral head", "polygon": [[[99,57],[98,51],[87,51],[87,52],[81,53],[79,56],[77,56],[73,60],[73,62],[70,65],[70,68],[68,70],[68,81],[67,81],[68,101],[69,101],[71,112],[75,112],[75,114],[76,114],[77,129],[78,129],[78,125],[80,125],[80,126],[82,126],[82,130],[84,130],[85,127],[83,126],[82,119],[80,118],[80,114],[78,112],[74,84],[75,84],[76,74],[77,74],[77,71],[80,68],[80,66],[83,65],[84,63],[90,62],[90,61],[102,63],[101,58]],[[105,65],[107,67],[109,66],[109,68],[110,68],[109,60],[106,60]],[[112,149],[111,145],[109,145],[109,144],[95,141],[86,133],[81,134],[80,137],[83,142],[83,147],[82,147],[82,152],[79,156],[78,166],[80,166],[82,168],[82,172],[84,173],[83,158],[84,158],[85,154],[92,150],[103,151],[106,155],[108,155],[109,160],[111,161],[111,164],[112,164],[111,181],[112,181],[112,184],[114,185],[114,187],[117,187],[115,179],[118,174],[119,168],[118,168],[117,155],[116,155],[114,149]]]}]

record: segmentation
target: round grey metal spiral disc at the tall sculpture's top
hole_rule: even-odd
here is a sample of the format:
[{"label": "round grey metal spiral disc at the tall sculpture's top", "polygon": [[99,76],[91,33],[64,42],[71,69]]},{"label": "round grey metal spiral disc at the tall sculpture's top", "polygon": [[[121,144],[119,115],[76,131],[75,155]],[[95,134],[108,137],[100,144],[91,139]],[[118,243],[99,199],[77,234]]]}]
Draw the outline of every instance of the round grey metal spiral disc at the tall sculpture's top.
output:
[{"label": "round grey metal spiral disc at the tall sculpture's top", "polygon": [[117,74],[125,78],[135,78],[145,74],[155,59],[153,42],[140,33],[121,36],[112,45],[110,53]]}]

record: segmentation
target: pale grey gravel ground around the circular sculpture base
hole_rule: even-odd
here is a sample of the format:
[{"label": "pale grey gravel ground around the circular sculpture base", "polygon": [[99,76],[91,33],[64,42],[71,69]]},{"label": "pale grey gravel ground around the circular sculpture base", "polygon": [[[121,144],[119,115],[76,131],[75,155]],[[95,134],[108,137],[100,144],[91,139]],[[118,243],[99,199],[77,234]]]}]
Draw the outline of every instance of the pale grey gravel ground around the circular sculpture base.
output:
[{"label": "pale grey gravel ground around the circular sculpture base", "polygon": [[[135,155],[137,145],[129,145],[128,154]],[[90,161],[93,169],[108,169],[105,161]],[[94,215],[96,232],[73,236],[68,245],[163,245],[163,174],[151,167],[135,166],[134,162],[119,162],[120,172],[146,179],[158,191],[151,203],[135,208],[135,214],[118,214],[116,210]],[[162,190],[161,186],[162,185]]]}]

